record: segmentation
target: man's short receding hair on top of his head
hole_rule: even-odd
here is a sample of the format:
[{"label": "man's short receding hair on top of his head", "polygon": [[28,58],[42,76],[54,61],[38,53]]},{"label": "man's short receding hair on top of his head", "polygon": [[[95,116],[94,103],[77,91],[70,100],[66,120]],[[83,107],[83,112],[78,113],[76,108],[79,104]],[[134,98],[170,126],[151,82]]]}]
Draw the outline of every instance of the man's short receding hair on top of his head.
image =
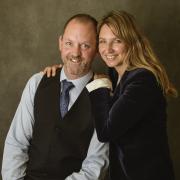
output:
[{"label": "man's short receding hair on top of his head", "polygon": [[77,20],[79,22],[82,22],[82,23],[91,23],[94,27],[94,31],[95,33],[97,34],[97,20],[92,17],[91,15],[89,14],[75,14],[74,16],[70,17],[67,22],[65,23],[64,27],[63,27],[63,34],[66,30],[66,27],[68,26],[68,24],[72,21],[72,20]]}]

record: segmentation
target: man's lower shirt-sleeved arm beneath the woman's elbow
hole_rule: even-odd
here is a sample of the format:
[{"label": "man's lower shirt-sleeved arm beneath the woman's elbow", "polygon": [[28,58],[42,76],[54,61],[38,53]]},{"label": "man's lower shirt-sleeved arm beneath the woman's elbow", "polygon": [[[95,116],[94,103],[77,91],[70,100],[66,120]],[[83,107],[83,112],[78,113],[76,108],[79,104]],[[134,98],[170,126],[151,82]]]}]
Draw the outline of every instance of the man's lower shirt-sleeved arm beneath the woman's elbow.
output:
[{"label": "man's lower shirt-sleeved arm beneath the woman's elbow", "polygon": [[92,136],[87,156],[78,173],[73,173],[65,180],[101,180],[109,165],[109,144],[100,143],[96,131]]}]

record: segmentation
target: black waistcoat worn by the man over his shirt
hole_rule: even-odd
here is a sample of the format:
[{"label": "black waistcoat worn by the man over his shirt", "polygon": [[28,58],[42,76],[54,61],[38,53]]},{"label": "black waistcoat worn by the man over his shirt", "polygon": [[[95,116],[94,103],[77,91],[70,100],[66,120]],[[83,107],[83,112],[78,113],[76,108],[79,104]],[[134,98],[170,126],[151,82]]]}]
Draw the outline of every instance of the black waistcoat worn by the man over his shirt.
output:
[{"label": "black waistcoat worn by the man over his shirt", "polygon": [[93,116],[86,88],[62,119],[60,72],[44,76],[34,99],[33,137],[25,180],[63,180],[81,169],[93,134]]}]

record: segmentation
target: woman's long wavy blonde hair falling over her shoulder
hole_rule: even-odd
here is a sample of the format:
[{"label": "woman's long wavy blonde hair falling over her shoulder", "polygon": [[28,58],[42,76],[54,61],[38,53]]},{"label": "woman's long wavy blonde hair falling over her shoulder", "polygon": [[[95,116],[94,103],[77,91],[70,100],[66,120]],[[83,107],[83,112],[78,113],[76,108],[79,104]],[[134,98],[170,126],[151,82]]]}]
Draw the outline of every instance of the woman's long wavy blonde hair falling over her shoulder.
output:
[{"label": "woman's long wavy blonde hair falling over her shoulder", "polygon": [[106,24],[127,45],[128,70],[145,68],[151,71],[164,95],[177,97],[178,92],[169,81],[166,70],[156,57],[148,39],[140,31],[134,17],[125,11],[111,11],[98,23],[98,33]]}]

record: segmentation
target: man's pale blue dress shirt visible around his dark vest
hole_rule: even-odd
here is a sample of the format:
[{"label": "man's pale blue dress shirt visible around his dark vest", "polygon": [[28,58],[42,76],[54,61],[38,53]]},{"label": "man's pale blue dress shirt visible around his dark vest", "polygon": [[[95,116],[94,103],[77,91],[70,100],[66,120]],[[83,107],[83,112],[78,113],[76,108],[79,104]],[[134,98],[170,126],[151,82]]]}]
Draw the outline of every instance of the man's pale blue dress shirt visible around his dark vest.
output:
[{"label": "man's pale blue dress shirt visible around his dark vest", "polygon": [[[26,174],[26,164],[28,162],[29,141],[33,134],[34,125],[34,96],[36,89],[43,77],[42,73],[33,75],[26,84],[21,101],[16,110],[6,137],[3,162],[3,180],[23,180]],[[71,108],[77,97],[92,77],[92,72],[76,79],[70,80],[75,87],[70,91]],[[60,81],[67,79],[62,69]],[[68,79],[67,79],[68,80]],[[94,131],[87,156],[82,163],[80,172],[74,172],[65,180],[99,180],[107,170],[109,145],[100,143]]]}]

